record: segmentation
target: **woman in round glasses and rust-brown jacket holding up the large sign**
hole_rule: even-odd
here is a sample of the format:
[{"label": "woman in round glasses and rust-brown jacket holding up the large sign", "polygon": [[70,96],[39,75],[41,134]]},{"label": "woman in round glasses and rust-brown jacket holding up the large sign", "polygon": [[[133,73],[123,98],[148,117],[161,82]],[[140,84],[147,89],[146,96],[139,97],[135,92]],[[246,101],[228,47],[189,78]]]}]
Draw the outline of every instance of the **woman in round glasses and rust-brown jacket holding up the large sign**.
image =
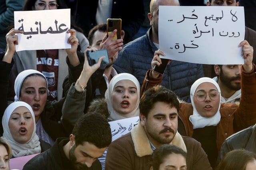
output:
[{"label": "woman in round glasses and rust-brown jacket holding up the large sign", "polygon": [[[184,136],[199,141],[208,155],[211,166],[215,166],[218,151],[224,140],[237,131],[256,123],[256,66],[252,64],[253,48],[246,40],[242,47],[244,64],[241,67],[240,104],[220,103],[220,87],[211,78],[200,78],[190,89],[192,104],[180,103],[178,131]],[[160,65],[162,51],[156,51],[152,68]],[[160,84],[162,75],[148,70],[142,92]],[[238,141],[239,142],[239,141]]]}]

